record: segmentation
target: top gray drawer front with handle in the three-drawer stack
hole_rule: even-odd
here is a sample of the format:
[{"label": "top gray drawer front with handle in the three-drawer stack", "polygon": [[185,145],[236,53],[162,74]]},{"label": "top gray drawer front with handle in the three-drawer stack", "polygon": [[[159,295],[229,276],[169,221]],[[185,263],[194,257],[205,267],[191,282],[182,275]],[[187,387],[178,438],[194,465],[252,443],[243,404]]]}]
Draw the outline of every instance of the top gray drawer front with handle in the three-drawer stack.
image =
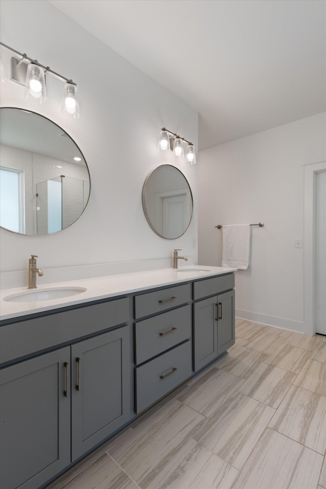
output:
[{"label": "top gray drawer front with handle in the three-drawer stack", "polygon": [[191,299],[190,284],[178,285],[167,289],[134,296],[134,319],[157,314],[171,307],[186,304]]}]

